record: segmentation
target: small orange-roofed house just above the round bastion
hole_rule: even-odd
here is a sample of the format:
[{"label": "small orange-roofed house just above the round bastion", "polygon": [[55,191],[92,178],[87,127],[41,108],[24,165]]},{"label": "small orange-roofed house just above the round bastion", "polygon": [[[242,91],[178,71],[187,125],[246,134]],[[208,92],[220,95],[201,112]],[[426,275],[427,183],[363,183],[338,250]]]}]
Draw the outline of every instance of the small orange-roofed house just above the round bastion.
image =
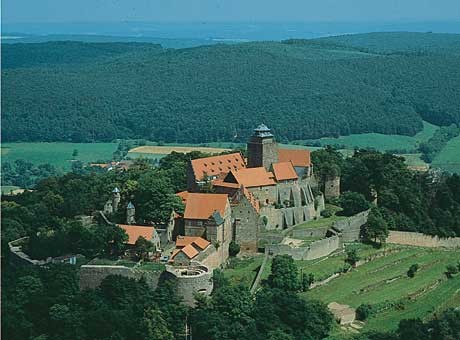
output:
[{"label": "small orange-roofed house just above the round bastion", "polygon": [[205,251],[211,242],[202,237],[178,236],[176,249],[171,255],[170,262],[174,265],[188,266],[200,253]]}]

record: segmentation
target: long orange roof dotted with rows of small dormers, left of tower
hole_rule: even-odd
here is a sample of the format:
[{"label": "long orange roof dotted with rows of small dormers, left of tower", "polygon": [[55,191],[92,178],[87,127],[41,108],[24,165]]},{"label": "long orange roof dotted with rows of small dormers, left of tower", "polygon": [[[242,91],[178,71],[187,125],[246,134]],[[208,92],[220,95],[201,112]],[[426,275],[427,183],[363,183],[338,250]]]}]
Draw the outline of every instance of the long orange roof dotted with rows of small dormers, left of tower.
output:
[{"label": "long orange roof dotted with rows of small dormers, left of tower", "polygon": [[208,176],[218,176],[230,170],[238,170],[246,167],[243,156],[239,152],[227,155],[193,159],[191,161],[195,180],[201,181],[205,174]]}]

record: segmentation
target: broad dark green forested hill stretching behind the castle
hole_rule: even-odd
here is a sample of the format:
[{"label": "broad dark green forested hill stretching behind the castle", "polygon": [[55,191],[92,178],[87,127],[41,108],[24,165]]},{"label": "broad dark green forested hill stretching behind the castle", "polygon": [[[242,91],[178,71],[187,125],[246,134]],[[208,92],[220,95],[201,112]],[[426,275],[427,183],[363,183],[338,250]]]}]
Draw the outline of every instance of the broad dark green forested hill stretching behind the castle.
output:
[{"label": "broad dark green forested hill stretching behind the castle", "polygon": [[[404,40],[412,46],[414,36],[426,41],[423,52],[398,50]],[[53,55],[64,59],[53,63],[44,48],[48,61],[41,65],[32,58],[46,44],[31,46],[34,53],[28,44],[3,45],[10,65],[2,71],[3,140],[243,141],[263,121],[287,141],[412,135],[422,118],[459,123],[460,56],[453,46],[460,35],[380,38],[381,49],[374,46],[379,35],[177,50],[116,44],[122,53],[95,53],[93,61],[72,44],[54,42]]]}]

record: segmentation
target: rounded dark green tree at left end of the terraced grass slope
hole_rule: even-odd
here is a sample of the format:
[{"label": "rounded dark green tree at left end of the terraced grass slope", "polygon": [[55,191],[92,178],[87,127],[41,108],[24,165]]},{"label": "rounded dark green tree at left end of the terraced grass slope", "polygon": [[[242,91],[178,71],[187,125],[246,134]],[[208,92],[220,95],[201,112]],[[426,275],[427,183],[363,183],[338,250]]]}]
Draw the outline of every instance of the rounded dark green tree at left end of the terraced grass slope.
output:
[{"label": "rounded dark green tree at left end of the terraced grass slope", "polygon": [[276,255],[272,261],[271,274],[267,280],[271,288],[286,291],[300,289],[299,273],[294,260],[289,255]]}]

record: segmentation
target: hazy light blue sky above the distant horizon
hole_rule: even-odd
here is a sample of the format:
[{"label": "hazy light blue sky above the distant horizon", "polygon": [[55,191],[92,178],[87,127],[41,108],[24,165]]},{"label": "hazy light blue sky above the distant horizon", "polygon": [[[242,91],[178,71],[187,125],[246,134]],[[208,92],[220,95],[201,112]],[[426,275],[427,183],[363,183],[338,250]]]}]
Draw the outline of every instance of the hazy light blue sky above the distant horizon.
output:
[{"label": "hazy light blue sky above the distant horizon", "polygon": [[2,0],[3,23],[460,21],[460,0]]}]

